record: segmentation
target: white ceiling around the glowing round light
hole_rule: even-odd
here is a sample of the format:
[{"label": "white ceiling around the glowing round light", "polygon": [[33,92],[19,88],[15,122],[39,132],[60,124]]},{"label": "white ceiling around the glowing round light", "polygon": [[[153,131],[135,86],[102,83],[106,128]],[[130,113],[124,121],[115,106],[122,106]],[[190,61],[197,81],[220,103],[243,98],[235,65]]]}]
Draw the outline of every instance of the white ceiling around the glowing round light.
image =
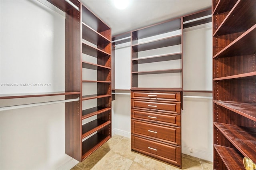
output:
[{"label": "white ceiling around the glowing round light", "polygon": [[112,36],[211,7],[211,0],[130,0],[124,10],[112,0],[81,0],[112,29]]}]

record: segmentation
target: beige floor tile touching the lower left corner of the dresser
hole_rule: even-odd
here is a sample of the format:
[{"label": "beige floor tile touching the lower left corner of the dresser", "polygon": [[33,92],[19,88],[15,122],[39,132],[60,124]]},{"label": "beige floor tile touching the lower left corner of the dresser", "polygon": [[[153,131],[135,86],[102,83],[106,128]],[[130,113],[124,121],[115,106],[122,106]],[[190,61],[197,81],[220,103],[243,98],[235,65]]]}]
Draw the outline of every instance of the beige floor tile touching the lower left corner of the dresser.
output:
[{"label": "beige floor tile touching the lower left corner of the dresser", "polygon": [[131,140],[129,138],[122,138],[120,142],[115,145],[112,151],[130,160],[134,160],[137,156],[136,153],[131,151]]}]

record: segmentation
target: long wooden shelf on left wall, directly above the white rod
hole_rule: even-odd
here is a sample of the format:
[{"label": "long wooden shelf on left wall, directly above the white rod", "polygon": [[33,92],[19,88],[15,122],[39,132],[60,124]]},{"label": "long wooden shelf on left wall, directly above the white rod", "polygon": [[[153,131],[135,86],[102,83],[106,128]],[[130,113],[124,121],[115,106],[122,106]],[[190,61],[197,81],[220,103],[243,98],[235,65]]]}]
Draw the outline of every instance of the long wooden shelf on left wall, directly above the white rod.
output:
[{"label": "long wooden shelf on left wall, directly above the white rod", "polygon": [[78,95],[80,92],[49,92],[49,93],[20,93],[20,94],[1,94],[0,99],[17,99],[26,97],[44,97],[58,95]]}]

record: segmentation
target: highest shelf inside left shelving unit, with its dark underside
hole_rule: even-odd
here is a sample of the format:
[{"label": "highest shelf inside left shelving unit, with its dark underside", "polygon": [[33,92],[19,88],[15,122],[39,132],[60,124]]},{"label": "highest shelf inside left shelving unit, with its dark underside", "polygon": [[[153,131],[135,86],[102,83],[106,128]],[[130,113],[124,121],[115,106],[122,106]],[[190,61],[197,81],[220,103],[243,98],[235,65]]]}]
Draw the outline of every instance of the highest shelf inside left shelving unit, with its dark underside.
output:
[{"label": "highest shelf inside left shelving unit, with its dark underside", "polygon": [[88,27],[86,24],[82,22],[82,39],[87,40],[95,45],[98,44],[108,44],[110,40],[106,37],[102,36],[92,28]]}]

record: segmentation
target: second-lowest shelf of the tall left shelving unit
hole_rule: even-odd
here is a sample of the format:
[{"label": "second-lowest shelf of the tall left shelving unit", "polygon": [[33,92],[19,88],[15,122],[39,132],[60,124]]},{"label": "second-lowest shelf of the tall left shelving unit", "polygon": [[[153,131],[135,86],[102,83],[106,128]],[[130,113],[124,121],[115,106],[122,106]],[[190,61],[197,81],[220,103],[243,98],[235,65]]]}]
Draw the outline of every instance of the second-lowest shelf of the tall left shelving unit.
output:
[{"label": "second-lowest shelf of the tall left shelving unit", "polygon": [[110,121],[96,119],[94,121],[91,121],[89,123],[82,125],[82,139],[96,132],[97,130],[100,130],[101,128],[106,127],[110,123],[111,123]]}]

